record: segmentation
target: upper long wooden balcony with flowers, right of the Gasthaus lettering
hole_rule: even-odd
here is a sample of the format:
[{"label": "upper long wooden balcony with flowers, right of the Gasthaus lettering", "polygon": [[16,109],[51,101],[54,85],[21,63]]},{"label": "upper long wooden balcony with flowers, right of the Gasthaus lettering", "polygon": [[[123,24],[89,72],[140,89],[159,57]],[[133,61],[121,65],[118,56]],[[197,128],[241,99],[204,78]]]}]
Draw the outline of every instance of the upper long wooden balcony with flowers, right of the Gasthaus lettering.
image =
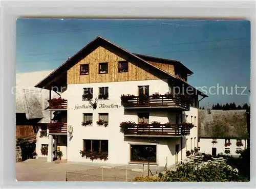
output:
[{"label": "upper long wooden balcony with flowers, right of the Gasthaus lettering", "polygon": [[189,111],[190,102],[184,95],[122,95],[121,103],[125,109],[175,108]]}]

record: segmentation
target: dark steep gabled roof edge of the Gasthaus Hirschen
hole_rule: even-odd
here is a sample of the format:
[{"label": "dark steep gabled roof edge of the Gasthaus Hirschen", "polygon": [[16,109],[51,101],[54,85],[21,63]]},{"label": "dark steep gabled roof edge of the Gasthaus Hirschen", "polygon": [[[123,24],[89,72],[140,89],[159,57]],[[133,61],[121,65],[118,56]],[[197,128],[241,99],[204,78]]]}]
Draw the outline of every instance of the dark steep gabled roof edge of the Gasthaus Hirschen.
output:
[{"label": "dark steep gabled roof edge of the Gasthaus Hirschen", "polygon": [[[63,79],[67,79],[67,70],[69,70],[71,67],[73,67],[76,63],[78,63],[84,57],[88,56],[93,50],[95,50],[99,46],[111,47],[114,50],[118,51],[119,53],[122,53],[123,55],[125,55],[129,58],[136,60],[137,62],[140,62],[144,65],[147,65],[149,69],[155,70],[161,74],[165,74],[166,78],[177,79],[174,75],[148,63],[147,61],[142,59],[139,55],[137,56],[134,53],[131,53],[131,52],[127,51],[126,49],[112,43],[111,41],[108,41],[108,40],[104,39],[103,37],[98,36],[94,40],[92,40],[90,43],[88,43],[86,46],[84,46],[81,50],[79,50],[77,53],[75,53],[75,55],[73,55],[70,59],[68,59],[66,62],[64,62],[62,65],[60,65],[57,69],[55,69],[46,78],[44,78],[38,84],[36,84],[35,87],[50,89],[49,84],[52,82],[53,79],[60,78],[60,77],[62,77]],[[185,84],[185,85],[188,85],[188,84]],[[198,94],[202,95],[202,96],[207,96],[200,91],[198,91]]]}]

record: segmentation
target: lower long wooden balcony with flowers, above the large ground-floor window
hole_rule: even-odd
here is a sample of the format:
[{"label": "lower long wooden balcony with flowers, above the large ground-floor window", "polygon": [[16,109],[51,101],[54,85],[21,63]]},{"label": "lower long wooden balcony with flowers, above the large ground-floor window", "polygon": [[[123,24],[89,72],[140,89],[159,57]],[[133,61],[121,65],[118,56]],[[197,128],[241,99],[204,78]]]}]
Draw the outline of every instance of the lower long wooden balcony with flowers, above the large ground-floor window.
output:
[{"label": "lower long wooden balcony with flowers, above the large ground-floor window", "polygon": [[[190,134],[190,129],[194,127],[191,123],[183,124],[127,124],[123,122],[124,125],[121,126],[120,130],[124,133],[124,136],[134,136],[134,137],[181,137]],[[126,123],[126,125],[125,125]]]}]

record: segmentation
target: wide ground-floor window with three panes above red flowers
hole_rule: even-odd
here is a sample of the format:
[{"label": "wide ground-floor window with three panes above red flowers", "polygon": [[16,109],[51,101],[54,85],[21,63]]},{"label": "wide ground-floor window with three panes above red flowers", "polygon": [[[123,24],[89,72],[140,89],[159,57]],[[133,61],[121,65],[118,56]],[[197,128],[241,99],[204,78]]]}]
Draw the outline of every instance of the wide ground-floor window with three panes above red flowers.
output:
[{"label": "wide ground-floor window with three panes above red flowers", "polygon": [[109,141],[108,140],[83,140],[83,149],[86,152],[108,152]]}]

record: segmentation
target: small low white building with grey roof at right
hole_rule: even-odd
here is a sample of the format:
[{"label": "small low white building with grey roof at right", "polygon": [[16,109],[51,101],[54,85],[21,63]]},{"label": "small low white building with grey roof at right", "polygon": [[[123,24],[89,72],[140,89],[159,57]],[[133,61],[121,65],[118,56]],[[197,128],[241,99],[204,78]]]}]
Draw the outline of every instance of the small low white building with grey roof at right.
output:
[{"label": "small low white building with grey roof at right", "polygon": [[199,110],[200,152],[239,156],[247,148],[246,110]]}]

